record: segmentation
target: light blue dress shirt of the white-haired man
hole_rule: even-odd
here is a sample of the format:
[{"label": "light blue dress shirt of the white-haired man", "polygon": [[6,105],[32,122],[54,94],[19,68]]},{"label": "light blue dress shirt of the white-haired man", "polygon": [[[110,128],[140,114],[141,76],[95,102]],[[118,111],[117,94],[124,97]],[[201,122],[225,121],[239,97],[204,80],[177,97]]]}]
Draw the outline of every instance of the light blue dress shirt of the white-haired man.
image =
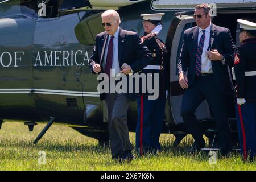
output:
[{"label": "light blue dress shirt of the white-haired man", "polygon": [[[118,39],[119,39],[119,27],[118,30],[113,35],[113,60],[112,60],[112,69],[115,69],[115,75],[120,72],[120,65],[118,60]],[[108,47],[109,47],[109,40],[111,38],[111,35],[108,35],[108,40],[106,42],[106,49],[104,54],[104,61],[103,61],[103,67],[105,68],[106,65],[106,57],[108,55]],[[111,77],[114,77],[115,75],[111,75]]]}]

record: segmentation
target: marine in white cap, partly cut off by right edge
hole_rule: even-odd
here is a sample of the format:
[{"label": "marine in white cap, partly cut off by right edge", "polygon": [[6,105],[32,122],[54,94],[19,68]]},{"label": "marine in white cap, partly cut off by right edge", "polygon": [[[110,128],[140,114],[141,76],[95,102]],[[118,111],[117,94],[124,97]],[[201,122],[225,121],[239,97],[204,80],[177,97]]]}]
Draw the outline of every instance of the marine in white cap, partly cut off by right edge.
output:
[{"label": "marine in white cap, partly cut off by right edge", "polygon": [[[240,46],[234,53],[237,128],[243,159],[256,156],[256,23],[238,19]],[[249,155],[250,153],[250,155]]]}]

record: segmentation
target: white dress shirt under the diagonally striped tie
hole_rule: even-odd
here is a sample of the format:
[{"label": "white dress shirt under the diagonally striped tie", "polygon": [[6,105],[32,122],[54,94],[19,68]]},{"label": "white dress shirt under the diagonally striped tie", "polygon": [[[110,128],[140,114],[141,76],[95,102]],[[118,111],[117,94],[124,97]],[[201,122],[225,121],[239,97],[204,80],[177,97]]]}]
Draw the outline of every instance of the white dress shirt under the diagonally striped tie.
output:
[{"label": "white dress shirt under the diagonally striped tie", "polygon": [[205,39],[204,39],[204,47],[203,47],[203,52],[202,52],[202,59],[201,59],[201,72],[202,73],[212,73],[212,62],[208,59],[207,57],[207,51],[209,46],[210,46],[210,27],[212,26],[212,23],[205,28],[199,28],[199,33],[198,33],[198,38],[197,38],[197,45],[199,44],[201,35],[203,35],[203,31],[205,30]]}]

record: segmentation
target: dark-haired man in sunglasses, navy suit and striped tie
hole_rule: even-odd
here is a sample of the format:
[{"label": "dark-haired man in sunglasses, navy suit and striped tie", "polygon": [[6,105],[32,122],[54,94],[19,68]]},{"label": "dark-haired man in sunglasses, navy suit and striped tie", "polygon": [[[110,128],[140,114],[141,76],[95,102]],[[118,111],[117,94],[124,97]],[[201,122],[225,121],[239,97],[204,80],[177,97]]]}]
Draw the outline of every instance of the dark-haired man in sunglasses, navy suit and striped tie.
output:
[{"label": "dark-haired man in sunglasses, navy suit and striped tie", "polygon": [[[221,154],[230,151],[230,128],[225,95],[233,90],[228,63],[235,49],[230,31],[211,23],[210,6],[197,5],[194,13],[197,26],[184,32],[179,57],[179,84],[185,89],[181,116],[195,139],[191,151],[205,146],[195,110],[207,100],[218,129]],[[188,69],[188,76],[185,72]]]}]

